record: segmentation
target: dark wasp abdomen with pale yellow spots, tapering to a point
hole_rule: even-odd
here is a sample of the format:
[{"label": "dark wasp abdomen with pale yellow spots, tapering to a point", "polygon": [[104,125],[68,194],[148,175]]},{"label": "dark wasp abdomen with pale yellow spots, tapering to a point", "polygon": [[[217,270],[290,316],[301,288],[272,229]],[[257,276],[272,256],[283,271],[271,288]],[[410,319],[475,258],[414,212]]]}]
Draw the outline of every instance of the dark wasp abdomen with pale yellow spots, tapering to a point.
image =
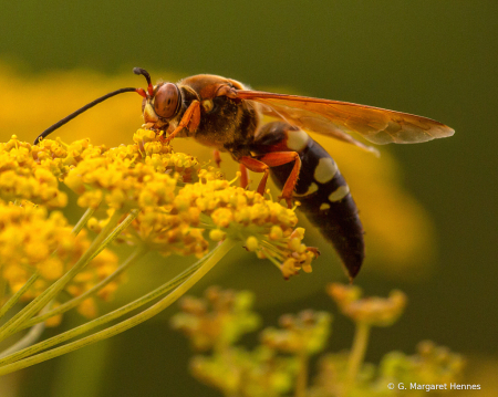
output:
[{"label": "dark wasp abdomen with pale yellow spots, tapering to a point", "polygon": [[[269,123],[258,133],[256,155],[274,152],[297,152],[302,166],[294,199],[300,210],[332,242],[347,274],[353,279],[365,255],[363,227],[349,186],[332,157],[307,133],[287,123]],[[281,188],[293,164],[271,168],[271,176]]]}]

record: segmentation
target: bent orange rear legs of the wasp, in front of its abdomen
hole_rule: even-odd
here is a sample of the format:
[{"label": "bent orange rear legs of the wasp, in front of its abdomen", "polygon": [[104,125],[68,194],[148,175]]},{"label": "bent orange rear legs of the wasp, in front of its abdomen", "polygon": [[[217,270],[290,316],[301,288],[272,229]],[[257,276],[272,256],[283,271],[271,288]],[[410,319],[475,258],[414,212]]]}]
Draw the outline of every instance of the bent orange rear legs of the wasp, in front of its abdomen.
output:
[{"label": "bent orange rear legs of the wasp, in front of its abdomen", "polygon": [[289,178],[283,185],[282,196],[279,197],[279,199],[286,200],[289,208],[292,207],[292,191],[294,190],[295,184],[298,182],[299,171],[301,170],[301,158],[299,157],[299,154],[295,152],[273,152],[259,156],[258,159],[247,156],[240,158],[240,164],[245,165],[251,171],[264,173],[258,186],[258,192],[260,195],[264,192],[268,176],[270,175],[270,168],[278,167],[291,161],[294,161],[294,166],[292,167]]}]

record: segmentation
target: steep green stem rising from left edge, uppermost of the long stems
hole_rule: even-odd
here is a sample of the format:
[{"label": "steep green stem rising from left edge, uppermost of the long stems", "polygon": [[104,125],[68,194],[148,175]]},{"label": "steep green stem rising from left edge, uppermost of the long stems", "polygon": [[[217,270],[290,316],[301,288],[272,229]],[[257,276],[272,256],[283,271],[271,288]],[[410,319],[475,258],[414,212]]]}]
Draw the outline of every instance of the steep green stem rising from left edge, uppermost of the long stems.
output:
[{"label": "steep green stem rising from left edge, uppermost of the long stems", "polygon": [[[129,215],[128,215],[129,217]],[[58,281],[50,285],[45,291],[43,291],[37,299],[29,303],[23,310],[18,314],[12,316],[3,326],[0,328],[0,341],[15,333],[24,321],[32,317],[34,313],[38,313],[42,307],[44,307],[52,299],[54,299],[59,292],[92,260],[94,254],[103,250],[102,242],[108,237],[111,231],[115,228],[121,213],[115,211],[111,217],[107,224],[102,229],[98,236],[93,240],[89,250],[80,258],[80,260]]]}]

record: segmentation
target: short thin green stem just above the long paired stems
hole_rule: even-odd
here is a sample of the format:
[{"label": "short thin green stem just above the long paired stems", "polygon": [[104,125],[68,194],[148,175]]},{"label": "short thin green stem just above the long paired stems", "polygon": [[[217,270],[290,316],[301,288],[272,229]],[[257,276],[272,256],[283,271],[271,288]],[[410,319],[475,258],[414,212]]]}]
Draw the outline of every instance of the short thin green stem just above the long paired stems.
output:
[{"label": "short thin green stem just above the long paired stems", "polygon": [[105,285],[107,285],[111,281],[113,281],[115,278],[117,278],[120,274],[122,274],[126,269],[128,269],[134,262],[136,262],[139,258],[142,258],[146,252],[147,252],[147,248],[145,245],[138,245],[136,248],[136,250],[126,259],[126,261],[123,262],[123,264],[118,269],[116,269],[116,271],[114,273],[110,274],[107,278],[102,280],[100,283],[95,284],[89,291],[85,291],[80,296],[76,296],[76,297],[72,299],[71,301],[68,301],[68,302],[61,304],[60,306],[51,310],[50,312],[46,312],[44,314],[32,317],[31,320],[29,320],[24,324],[22,324],[22,326],[20,326],[19,330],[29,328],[30,326],[33,326],[34,324],[38,324],[42,321],[53,317],[54,315],[68,312],[69,310],[77,306],[85,299],[95,294],[96,292],[102,290]]}]

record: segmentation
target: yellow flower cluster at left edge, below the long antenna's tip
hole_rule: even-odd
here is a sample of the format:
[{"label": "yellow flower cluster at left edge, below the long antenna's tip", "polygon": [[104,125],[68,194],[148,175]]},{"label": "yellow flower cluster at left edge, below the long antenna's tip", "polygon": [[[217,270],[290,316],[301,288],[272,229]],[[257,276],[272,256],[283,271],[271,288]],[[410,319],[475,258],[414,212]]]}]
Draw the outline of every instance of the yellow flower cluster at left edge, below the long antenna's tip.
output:
[{"label": "yellow flower cluster at left edge, below the long antenna's tip", "polygon": [[49,208],[64,207],[68,197],[59,190],[58,177],[63,173],[61,146],[50,142],[33,147],[15,135],[0,143],[0,198],[6,201],[29,200]]}]

